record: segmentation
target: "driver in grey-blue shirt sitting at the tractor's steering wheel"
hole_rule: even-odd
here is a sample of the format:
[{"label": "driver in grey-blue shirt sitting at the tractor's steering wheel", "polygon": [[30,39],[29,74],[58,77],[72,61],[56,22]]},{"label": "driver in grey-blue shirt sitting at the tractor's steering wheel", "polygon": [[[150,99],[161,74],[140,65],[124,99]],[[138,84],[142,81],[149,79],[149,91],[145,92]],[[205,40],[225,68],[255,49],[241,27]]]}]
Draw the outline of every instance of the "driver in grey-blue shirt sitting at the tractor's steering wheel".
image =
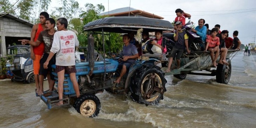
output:
[{"label": "driver in grey-blue shirt sitting at the tractor's steering wheel", "polygon": [[123,75],[130,68],[130,66],[135,62],[135,59],[139,57],[137,48],[135,45],[130,44],[130,37],[128,34],[123,35],[123,51],[120,53],[123,59],[120,64],[122,65],[122,70],[119,78],[116,79],[115,83],[120,83]]}]

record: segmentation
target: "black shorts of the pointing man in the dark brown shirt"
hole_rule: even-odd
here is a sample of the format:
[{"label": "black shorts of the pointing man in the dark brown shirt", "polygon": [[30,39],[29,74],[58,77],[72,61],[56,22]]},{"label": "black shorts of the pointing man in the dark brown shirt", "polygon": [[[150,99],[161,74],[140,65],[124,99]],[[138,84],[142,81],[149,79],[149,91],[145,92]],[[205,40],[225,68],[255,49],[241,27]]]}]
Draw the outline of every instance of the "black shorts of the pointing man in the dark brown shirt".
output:
[{"label": "black shorts of the pointing man in the dark brown shirt", "polygon": [[52,65],[55,64],[55,58],[56,58],[55,55],[53,56],[52,59],[50,59],[49,64],[48,64],[48,68],[47,69],[43,68],[43,63],[45,63],[48,56],[49,56],[48,53],[43,53],[43,56],[40,59],[39,75],[43,75],[46,78],[47,74],[50,73],[50,79],[54,80],[54,75],[52,74]]}]

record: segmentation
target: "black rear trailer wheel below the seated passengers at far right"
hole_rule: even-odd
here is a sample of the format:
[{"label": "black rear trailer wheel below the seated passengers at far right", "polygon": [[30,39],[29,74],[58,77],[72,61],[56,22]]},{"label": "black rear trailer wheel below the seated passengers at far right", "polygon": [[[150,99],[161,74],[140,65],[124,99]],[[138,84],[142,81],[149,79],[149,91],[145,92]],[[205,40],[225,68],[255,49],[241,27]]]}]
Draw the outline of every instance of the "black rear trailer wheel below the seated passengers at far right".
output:
[{"label": "black rear trailer wheel below the seated passengers at far right", "polygon": [[231,61],[226,59],[229,65],[217,65],[216,81],[218,83],[228,84],[231,76]]}]

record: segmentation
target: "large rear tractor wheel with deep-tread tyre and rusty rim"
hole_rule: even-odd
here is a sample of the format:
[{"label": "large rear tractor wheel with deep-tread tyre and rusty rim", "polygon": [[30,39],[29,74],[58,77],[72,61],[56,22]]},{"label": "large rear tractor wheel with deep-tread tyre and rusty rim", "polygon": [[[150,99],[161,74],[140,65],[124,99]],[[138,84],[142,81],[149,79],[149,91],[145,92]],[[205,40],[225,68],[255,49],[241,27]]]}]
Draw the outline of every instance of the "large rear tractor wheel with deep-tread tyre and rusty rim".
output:
[{"label": "large rear tractor wheel with deep-tread tyre and rusty rim", "polygon": [[143,66],[135,75],[134,85],[131,87],[131,98],[146,105],[158,104],[166,92],[163,71],[155,65]]}]

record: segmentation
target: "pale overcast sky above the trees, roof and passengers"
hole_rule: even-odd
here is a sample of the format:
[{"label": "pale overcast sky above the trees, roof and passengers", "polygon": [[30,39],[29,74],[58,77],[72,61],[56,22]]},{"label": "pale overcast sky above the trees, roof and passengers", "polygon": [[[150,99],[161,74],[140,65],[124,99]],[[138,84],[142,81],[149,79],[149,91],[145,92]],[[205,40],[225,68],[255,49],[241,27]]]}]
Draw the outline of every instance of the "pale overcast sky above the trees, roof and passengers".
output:
[{"label": "pale overcast sky above the trees, roof and passengers", "polygon": [[[77,0],[81,7],[86,3],[93,5],[102,4],[105,12],[130,7],[162,16],[163,20],[172,22],[175,10],[181,8],[191,15],[191,21],[196,26],[199,19],[203,18],[213,28],[221,25],[222,30],[228,30],[230,37],[233,32],[239,32],[238,38],[246,45],[254,42],[256,35],[256,0]],[[109,3],[108,3],[109,2]],[[108,6],[109,5],[109,6]],[[188,19],[186,19],[186,22]]]}]

